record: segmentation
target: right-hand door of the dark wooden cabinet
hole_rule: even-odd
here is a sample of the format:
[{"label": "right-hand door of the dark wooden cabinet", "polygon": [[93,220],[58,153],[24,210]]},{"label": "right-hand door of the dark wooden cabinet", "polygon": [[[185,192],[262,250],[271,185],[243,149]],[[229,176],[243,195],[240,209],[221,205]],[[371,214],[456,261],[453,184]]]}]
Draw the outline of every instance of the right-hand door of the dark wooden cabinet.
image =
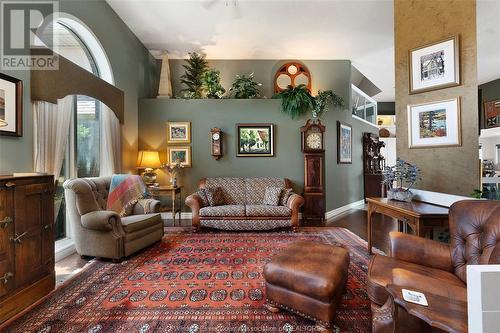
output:
[{"label": "right-hand door of the dark wooden cabinet", "polygon": [[31,284],[46,275],[42,251],[43,197],[47,184],[17,186],[16,224],[12,243],[16,256],[16,287]]}]

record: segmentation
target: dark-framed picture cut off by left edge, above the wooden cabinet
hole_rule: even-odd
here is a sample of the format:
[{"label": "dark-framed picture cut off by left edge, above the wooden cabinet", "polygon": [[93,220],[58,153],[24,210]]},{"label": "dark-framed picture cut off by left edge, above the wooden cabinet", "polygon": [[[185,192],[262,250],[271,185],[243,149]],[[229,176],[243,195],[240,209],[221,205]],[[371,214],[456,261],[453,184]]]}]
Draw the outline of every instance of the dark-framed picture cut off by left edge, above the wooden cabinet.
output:
[{"label": "dark-framed picture cut off by left edge, above the wooden cabinet", "polygon": [[0,135],[23,136],[23,81],[2,73]]}]

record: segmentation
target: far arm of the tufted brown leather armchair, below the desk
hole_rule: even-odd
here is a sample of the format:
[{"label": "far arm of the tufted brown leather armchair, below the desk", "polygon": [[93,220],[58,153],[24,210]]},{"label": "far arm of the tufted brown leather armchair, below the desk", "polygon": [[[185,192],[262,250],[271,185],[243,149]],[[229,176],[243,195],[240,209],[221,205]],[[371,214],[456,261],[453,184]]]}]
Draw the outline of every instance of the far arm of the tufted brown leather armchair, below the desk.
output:
[{"label": "far arm of the tufted brown leather armchair, below the desk", "polygon": [[423,237],[390,232],[391,256],[414,264],[453,271],[450,246]]}]

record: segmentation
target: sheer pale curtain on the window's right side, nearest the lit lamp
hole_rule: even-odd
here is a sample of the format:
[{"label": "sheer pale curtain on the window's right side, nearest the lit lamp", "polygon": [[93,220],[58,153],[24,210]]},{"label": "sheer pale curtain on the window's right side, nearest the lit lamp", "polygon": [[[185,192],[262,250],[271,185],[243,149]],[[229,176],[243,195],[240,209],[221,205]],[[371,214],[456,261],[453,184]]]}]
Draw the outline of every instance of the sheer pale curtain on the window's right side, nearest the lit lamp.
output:
[{"label": "sheer pale curtain on the window's right side, nearest the lit lamp", "polygon": [[101,103],[101,164],[99,175],[111,176],[121,172],[120,122],[114,112]]}]

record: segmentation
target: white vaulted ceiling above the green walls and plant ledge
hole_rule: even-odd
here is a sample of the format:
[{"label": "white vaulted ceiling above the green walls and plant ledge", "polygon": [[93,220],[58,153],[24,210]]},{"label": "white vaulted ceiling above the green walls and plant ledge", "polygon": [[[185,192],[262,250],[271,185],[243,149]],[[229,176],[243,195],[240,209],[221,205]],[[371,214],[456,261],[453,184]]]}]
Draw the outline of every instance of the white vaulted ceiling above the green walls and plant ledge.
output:
[{"label": "white vaulted ceiling above the green walls and plant ledge", "polygon": [[[350,59],[394,101],[392,0],[106,0],[151,51],[172,58]],[[478,3],[480,83],[500,77],[500,0]],[[494,38],[494,39],[493,39]],[[497,42],[492,43],[495,40]]]}]

